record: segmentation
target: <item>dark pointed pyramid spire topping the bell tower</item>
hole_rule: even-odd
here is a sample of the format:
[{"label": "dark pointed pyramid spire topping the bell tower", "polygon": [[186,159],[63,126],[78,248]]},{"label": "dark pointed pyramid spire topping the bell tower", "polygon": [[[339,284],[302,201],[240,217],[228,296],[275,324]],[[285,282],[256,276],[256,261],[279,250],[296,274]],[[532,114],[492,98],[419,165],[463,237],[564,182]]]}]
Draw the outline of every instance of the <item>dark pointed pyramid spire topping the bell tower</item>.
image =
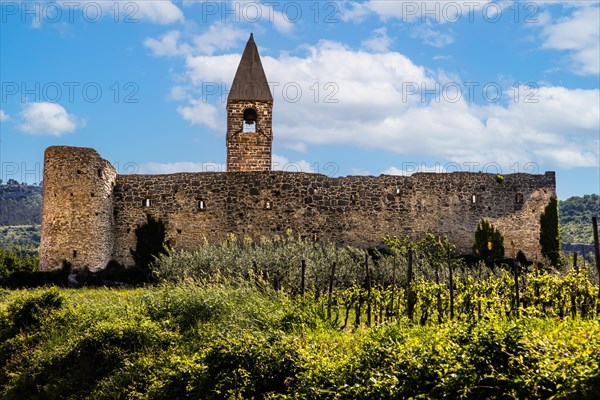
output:
[{"label": "dark pointed pyramid spire topping the bell tower", "polygon": [[252,33],[246,43],[227,100],[273,101]]}]

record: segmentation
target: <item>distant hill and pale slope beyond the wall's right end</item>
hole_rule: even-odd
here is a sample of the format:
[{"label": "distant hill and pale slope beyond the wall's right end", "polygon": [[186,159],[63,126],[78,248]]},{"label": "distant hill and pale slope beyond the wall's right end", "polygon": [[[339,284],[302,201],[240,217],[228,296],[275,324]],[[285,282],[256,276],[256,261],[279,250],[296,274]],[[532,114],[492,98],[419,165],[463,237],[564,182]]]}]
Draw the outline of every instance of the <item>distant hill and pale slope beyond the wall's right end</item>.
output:
[{"label": "distant hill and pale slope beyond the wall's right end", "polygon": [[571,197],[560,201],[561,240],[564,244],[593,244],[592,217],[600,218],[600,198],[597,194]]}]

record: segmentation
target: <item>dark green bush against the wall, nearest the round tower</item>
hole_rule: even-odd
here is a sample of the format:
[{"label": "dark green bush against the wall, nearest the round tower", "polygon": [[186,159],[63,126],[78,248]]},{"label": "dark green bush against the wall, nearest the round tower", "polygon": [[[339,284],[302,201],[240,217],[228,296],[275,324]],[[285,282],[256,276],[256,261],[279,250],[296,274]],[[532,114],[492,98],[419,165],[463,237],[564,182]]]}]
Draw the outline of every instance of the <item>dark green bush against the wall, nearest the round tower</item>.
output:
[{"label": "dark green bush against the wall, nearest the round tower", "polygon": [[148,214],[146,223],[136,228],[135,236],[137,241],[135,250],[131,250],[131,256],[135,265],[146,269],[150,276],[150,266],[154,258],[166,253],[165,224]]}]

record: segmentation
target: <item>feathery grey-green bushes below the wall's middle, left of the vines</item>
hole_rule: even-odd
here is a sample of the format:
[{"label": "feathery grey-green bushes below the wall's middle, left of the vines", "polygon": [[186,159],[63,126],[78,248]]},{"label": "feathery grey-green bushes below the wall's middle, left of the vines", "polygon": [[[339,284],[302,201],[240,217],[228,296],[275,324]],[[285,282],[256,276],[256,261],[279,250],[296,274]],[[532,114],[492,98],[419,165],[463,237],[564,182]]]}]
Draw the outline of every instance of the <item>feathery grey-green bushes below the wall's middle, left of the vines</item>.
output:
[{"label": "feathery grey-green bushes below the wall's middle, left of the vines", "polygon": [[[300,292],[301,260],[306,261],[307,290],[323,293],[327,290],[333,263],[336,282],[350,287],[360,280],[365,252],[333,243],[315,243],[285,236],[263,237],[257,242],[235,236],[221,244],[204,242],[193,252],[177,251],[163,254],[156,260],[153,272],[159,281],[231,282],[260,279],[269,286]],[[369,258],[371,262],[373,260]]]}]

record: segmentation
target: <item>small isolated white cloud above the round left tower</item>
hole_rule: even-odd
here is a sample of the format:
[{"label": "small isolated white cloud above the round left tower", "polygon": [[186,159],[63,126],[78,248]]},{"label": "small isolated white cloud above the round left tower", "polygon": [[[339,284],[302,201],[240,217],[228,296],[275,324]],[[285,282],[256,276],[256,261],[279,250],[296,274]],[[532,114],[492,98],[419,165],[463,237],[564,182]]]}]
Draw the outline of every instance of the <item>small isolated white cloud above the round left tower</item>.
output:
[{"label": "small isolated white cloud above the round left tower", "polygon": [[67,113],[60,104],[48,102],[26,104],[20,119],[17,129],[30,135],[62,136],[86,124],[84,119]]}]

